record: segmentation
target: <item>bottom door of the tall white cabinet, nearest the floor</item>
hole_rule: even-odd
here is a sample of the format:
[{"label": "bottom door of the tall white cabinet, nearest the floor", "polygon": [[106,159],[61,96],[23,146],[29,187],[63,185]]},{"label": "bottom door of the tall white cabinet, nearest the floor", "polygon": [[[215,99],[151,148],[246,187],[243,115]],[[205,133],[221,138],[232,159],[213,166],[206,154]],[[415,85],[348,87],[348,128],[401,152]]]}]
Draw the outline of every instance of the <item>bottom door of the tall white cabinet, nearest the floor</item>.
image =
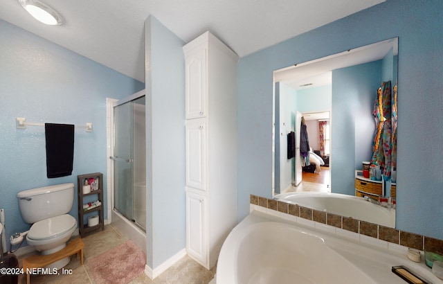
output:
[{"label": "bottom door of the tall white cabinet, nearest the floor", "polygon": [[205,204],[205,197],[186,193],[186,251],[206,267]]}]

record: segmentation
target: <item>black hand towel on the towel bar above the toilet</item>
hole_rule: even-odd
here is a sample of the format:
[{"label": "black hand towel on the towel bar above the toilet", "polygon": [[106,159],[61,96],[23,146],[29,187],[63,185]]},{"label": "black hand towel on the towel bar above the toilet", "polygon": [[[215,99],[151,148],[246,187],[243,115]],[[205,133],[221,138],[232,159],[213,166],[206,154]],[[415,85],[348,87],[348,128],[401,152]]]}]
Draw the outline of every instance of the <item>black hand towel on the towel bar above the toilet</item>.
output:
[{"label": "black hand towel on the towel bar above the toilet", "polygon": [[46,176],[72,175],[74,159],[74,125],[45,123]]}]

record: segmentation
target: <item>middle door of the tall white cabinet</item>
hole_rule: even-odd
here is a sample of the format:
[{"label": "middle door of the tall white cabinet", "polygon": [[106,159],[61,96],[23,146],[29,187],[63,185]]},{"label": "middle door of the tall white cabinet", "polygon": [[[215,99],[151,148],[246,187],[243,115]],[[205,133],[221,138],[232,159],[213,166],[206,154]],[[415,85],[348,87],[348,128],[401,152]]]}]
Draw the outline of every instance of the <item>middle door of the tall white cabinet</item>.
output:
[{"label": "middle door of the tall white cabinet", "polygon": [[186,122],[186,186],[206,190],[206,123]]}]

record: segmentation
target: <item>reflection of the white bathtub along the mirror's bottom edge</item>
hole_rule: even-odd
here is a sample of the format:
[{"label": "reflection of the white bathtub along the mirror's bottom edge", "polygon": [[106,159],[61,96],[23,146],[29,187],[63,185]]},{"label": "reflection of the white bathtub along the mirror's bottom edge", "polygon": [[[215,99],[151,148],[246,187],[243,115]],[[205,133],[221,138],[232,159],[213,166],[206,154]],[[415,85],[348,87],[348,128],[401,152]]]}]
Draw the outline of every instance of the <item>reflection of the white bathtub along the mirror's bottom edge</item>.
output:
[{"label": "reflection of the white bathtub along the mirror's bottom edge", "polygon": [[395,209],[366,201],[363,197],[339,193],[282,193],[274,199],[313,208],[318,211],[395,228]]}]

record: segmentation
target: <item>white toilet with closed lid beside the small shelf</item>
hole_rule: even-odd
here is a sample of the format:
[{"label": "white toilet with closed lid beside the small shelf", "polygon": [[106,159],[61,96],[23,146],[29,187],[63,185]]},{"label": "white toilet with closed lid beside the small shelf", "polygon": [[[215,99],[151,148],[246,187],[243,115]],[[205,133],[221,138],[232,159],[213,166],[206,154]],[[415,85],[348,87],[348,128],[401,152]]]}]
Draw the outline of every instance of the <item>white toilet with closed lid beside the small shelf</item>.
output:
[{"label": "white toilet with closed lid beside the small shelf", "polygon": [[[66,247],[77,228],[77,221],[71,215],[74,202],[74,184],[57,184],[33,188],[17,193],[21,217],[33,224],[26,236],[28,245],[33,245],[42,255],[53,254]],[[60,269],[71,258],[64,258],[48,268]]]}]

